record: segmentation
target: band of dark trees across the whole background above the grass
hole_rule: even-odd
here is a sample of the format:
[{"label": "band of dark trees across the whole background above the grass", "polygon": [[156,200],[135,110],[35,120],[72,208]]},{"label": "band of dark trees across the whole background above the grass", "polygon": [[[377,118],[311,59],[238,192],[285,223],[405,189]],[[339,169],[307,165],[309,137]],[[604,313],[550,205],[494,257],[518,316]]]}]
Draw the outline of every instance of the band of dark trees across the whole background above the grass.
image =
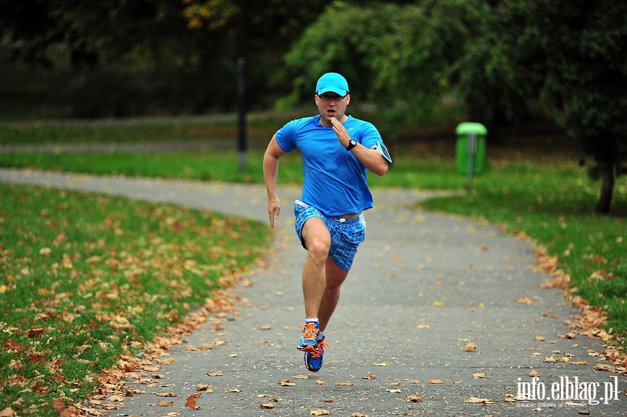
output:
[{"label": "band of dark trees across the whole background above the grass", "polygon": [[438,115],[490,132],[552,120],[590,155],[608,212],[627,159],[626,15],[611,0],[0,0],[0,109],[232,111],[245,54],[250,109],[309,103],[335,70],[392,138]]}]

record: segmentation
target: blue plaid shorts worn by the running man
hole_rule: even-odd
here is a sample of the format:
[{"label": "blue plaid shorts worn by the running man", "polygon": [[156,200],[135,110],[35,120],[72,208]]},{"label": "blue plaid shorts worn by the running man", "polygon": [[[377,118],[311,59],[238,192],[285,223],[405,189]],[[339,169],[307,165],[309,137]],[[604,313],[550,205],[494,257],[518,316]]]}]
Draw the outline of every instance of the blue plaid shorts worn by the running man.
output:
[{"label": "blue plaid shorts worn by the running man", "polygon": [[302,226],[311,217],[320,217],[327,226],[331,235],[331,247],[329,256],[338,267],[344,271],[350,270],[357,253],[357,246],[366,238],[366,219],[362,213],[355,219],[340,219],[339,217],[325,216],[316,207],[296,200],[294,204],[296,216],[296,233],[300,244],[307,249],[302,240]]}]

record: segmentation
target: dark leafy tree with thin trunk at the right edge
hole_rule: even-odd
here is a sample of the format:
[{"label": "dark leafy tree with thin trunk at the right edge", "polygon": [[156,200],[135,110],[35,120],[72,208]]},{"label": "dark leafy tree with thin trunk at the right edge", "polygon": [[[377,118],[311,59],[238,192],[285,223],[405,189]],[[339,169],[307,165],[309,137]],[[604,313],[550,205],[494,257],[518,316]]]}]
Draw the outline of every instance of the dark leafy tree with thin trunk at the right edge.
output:
[{"label": "dark leafy tree with thin trunk at the right edge", "polygon": [[[610,210],[614,177],[627,164],[625,15],[627,3],[610,0],[499,1],[476,39],[483,54],[471,49],[461,61],[487,63],[484,74],[474,67],[461,77],[467,101],[477,100],[478,85],[488,86],[497,93],[490,101],[500,100],[513,118],[525,101],[539,100],[594,157],[592,173],[603,177],[599,212]],[[477,83],[483,79],[497,84]]]}]

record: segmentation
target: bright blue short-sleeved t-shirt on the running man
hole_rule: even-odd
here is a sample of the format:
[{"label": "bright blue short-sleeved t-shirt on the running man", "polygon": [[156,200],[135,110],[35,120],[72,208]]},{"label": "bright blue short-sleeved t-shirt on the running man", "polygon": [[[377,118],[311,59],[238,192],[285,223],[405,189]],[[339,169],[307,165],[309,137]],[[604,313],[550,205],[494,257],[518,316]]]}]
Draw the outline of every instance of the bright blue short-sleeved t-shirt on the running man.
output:
[{"label": "bright blue short-sleeved t-shirt on the running man", "polygon": [[[348,116],[343,125],[366,148],[382,143],[372,123]],[[302,154],[303,203],[327,216],[359,213],[373,206],[366,167],[341,145],[332,127],[320,125],[319,115],[292,120],[276,136],[282,150],[298,148]]]}]

